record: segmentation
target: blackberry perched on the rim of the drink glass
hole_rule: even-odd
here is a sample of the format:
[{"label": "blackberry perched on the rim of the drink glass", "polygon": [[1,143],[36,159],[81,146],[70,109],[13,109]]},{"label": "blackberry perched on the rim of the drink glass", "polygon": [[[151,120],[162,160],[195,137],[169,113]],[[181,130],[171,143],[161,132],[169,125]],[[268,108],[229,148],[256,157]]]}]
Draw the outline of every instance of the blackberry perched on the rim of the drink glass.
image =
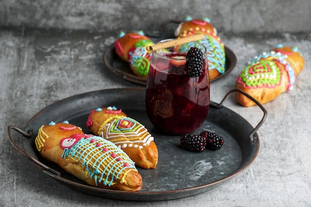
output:
[{"label": "blackberry perched on the rim of the drink glass", "polygon": [[203,72],[203,53],[197,47],[191,47],[186,56],[186,71],[190,77],[199,77]]}]

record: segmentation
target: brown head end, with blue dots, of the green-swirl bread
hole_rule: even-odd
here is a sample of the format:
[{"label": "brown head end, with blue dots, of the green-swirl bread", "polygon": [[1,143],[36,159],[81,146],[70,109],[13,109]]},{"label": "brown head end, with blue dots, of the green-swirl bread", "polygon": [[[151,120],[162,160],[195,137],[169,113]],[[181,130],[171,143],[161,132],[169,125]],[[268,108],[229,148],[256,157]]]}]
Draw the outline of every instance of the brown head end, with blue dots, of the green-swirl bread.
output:
[{"label": "brown head end, with blue dots, of the green-swirl bread", "polygon": [[135,46],[138,41],[150,40],[149,37],[145,36],[143,31],[124,33],[120,32],[119,38],[114,43],[115,51],[121,60],[128,62],[129,51]]}]

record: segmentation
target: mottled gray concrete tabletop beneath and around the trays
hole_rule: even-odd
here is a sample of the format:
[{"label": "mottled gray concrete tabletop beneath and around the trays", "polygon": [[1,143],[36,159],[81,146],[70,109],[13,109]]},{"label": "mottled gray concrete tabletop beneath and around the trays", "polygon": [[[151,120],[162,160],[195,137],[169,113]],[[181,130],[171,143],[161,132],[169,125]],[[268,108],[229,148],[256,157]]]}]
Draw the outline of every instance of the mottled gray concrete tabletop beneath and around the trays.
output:
[{"label": "mottled gray concrete tabletop beneath and around the trays", "polygon": [[[0,206],[311,206],[310,36],[220,35],[235,53],[237,65],[229,75],[211,83],[213,101],[219,102],[234,87],[248,60],[278,43],[298,46],[304,53],[305,69],[293,91],[265,104],[268,118],[258,131],[260,151],[245,171],[197,196],[136,203],[98,198],[64,186],[17,152],[6,132],[9,125],[22,129],[37,112],[60,99],[98,89],[140,87],[112,74],[102,63],[103,51],[114,42],[116,33],[1,28]],[[253,126],[262,117],[258,107],[243,108],[233,97],[225,105]]]}]

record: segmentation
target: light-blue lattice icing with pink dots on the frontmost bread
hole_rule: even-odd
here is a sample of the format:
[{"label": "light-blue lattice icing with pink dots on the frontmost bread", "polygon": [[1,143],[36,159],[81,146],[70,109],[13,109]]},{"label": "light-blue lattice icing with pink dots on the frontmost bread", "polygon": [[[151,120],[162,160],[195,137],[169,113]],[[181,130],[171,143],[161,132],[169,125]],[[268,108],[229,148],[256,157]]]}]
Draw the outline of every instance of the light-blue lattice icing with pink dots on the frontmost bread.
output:
[{"label": "light-blue lattice icing with pink dots on the frontmost bread", "polygon": [[[93,142],[91,140],[94,139]],[[97,145],[97,144],[101,145]],[[107,152],[103,151],[104,148],[108,148]],[[116,157],[111,156],[112,153],[116,154]],[[95,184],[103,181],[103,185],[111,186],[114,179],[117,179],[120,173],[126,168],[133,168],[136,170],[135,163],[125,154],[125,152],[119,149],[111,141],[104,138],[93,136],[91,138],[81,138],[70,149],[65,148],[62,154],[63,158],[75,157],[77,161],[82,163],[82,166],[86,167],[88,175],[91,179],[94,179]],[[117,161],[118,158],[122,158]],[[91,163],[95,160],[94,163]],[[124,164],[128,163],[129,166],[125,167]],[[90,167],[93,169],[90,170]],[[109,178],[111,178],[109,180]]]}]

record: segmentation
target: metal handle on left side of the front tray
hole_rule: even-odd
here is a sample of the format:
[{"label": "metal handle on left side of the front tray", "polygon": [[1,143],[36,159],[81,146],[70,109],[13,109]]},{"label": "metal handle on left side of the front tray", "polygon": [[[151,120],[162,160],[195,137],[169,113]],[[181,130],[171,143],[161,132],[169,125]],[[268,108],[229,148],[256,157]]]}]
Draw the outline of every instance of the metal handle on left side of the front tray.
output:
[{"label": "metal handle on left side of the front tray", "polygon": [[30,154],[28,154],[24,149],[20,148],[16,142],[13,140],[12,138],[12,133],[11,131],[14,130],[16,132],[18,132],[19,134],[21,134],[23,137],[26,137],[26,138],[31,138],[32,137],[32,132],[33,132],[33,129],[30,129],[28,133],[22,131],[21,129],[15,127],[15,126],[8,126],[7,127],[7,133],[8,133],[8,139],[11,143],[11,145],[17,150],[19,151],[22,155],[24,155],[25,157],[27,157],[36,167],[38,167],[39,169],[43,170],[43,171],[47,171],[47,174],[51,175],[51,173],[56,176],[60,176],[61,173],[52,169],[52,168],[49,168],[48,166],[46,166],[45,164],[39,162],[38,160],[36,160],[34,157],[32,157]]}]

